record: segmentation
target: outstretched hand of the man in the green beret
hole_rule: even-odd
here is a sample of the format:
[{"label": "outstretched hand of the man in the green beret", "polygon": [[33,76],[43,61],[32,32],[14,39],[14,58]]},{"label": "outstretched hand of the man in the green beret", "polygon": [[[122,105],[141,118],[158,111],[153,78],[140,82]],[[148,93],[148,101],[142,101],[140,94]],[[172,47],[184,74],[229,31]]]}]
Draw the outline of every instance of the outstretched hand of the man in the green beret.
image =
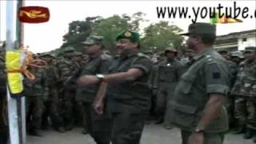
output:
[{"label": "outstretched hand of the man in the green beret", "polygon": [[98,82],[99,79],[94,75],[84,75],[77,80],[78,86],[90,86],[97,84]]}]

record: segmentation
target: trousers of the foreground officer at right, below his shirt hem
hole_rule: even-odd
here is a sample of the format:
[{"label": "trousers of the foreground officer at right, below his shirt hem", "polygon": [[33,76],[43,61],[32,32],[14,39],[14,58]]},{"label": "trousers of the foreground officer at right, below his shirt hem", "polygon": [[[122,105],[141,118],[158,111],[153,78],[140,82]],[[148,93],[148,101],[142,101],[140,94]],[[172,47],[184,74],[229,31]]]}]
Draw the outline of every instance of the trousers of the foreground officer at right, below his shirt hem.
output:
[{"label": "trousers of the foreground officer at right, below his shirt hem", "polygon": [[[181,130],[182,134],[182,144],[188,144],[188,140],[192,132]],[[224,133],[216,133],[216,134],[204,134],[204,142],[203,144],[222,144],[224,141],[225,135]]]}]

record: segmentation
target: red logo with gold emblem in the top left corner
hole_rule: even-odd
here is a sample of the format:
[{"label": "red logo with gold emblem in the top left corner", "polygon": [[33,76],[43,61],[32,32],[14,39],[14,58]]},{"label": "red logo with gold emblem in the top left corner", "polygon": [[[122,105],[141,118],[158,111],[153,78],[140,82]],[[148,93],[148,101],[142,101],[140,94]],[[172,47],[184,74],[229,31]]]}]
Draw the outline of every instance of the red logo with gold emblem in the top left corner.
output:
[{"label": "red logo with gold emblem in the top left corner", "polygon": [[27,23],[47,22],[50,19],[50,11],[42,6],[24,6],[18,10],[18,19]]}]

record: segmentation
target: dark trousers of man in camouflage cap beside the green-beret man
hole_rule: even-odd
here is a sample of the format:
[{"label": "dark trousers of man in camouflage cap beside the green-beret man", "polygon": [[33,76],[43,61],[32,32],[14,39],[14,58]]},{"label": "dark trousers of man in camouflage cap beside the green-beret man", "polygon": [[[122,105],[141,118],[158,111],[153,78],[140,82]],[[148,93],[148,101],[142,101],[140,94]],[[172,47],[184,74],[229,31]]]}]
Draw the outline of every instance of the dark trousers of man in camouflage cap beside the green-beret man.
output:
[{"label": "dark trousers of man in camouflage cap beside the green-beret man", "polygon": [[113,126],[110,114],[104,111],[102,115],[98,115],[90,102],[83,102],[83,110],[86,115],[86,130],[88,130],[90,136],[98,144],[109,144]]}]

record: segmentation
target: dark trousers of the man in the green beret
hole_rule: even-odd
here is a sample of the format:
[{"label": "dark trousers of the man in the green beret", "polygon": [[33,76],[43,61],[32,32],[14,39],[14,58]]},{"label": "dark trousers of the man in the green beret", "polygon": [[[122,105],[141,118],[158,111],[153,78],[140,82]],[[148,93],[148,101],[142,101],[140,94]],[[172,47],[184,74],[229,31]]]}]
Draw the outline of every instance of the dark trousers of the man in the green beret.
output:
[{"label": "dark trousers of the man in the green beret", "polygon": [[147,114],[113,113],[112,144],[139,144]]}]

